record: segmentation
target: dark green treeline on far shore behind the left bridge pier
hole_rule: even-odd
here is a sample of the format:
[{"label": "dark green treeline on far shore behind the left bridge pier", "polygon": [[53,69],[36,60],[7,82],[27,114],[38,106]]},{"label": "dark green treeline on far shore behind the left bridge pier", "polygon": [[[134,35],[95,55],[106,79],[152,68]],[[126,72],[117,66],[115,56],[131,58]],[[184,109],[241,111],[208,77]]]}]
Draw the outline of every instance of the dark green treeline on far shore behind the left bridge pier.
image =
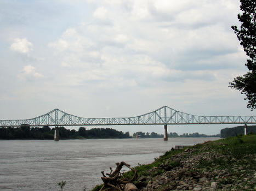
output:
[{"label": "dark green treeline on far shore behind the left bridge pier", "polygon": [[[93,128],[86,130],[80,127],[78,131],[75,129],[66,129],[59,127],[60,139],[96,139],[96,138],[131,138],[129,132],[123,133],[111,128]],[[54,139],[54,128],[49,126],[39,127],[1,127],[0,139]]]}]

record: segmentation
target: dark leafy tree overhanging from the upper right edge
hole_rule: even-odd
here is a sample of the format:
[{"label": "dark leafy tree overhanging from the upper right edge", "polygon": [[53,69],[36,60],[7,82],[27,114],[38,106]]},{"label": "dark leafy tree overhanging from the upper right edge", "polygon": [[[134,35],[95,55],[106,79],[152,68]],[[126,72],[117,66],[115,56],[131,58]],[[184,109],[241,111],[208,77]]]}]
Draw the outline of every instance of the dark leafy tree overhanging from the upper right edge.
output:
[{"label": "dark leafy tree overhanging from the upper right edge", "polygon": [[231,88],[238,89],[242,94],[246,95],[244,100],[248,100],[247,108],[251,110],[256,108],[256,23],[255,23],[255,11],[256,2],[255,0],[240,0],[240,9],[243,11],[242,15],[238,14],[238,20],[241,22],[240,29],[237,26],[232,26],[235,34],[241,45],[243,46],[244,52],[249,56],[247,63],[245,64],[249,71],[243,76],[238,76],[234,81],[230,82]]}]

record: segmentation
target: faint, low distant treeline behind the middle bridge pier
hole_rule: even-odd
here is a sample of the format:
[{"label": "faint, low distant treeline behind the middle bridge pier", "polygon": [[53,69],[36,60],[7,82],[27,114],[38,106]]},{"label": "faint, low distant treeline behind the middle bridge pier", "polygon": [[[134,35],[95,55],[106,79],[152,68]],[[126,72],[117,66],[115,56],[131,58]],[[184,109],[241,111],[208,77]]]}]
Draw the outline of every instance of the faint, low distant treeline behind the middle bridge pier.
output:
[{"label": "faint, low distant treeline behind the middle bridge pier", "polygon": [[[209,137],[220,137],[220,134],[217,135],[205,135],[205,134],[199,134],[199,133],[184,133],[181,135],[178,135],[178,133],[168,133],[168,138],[209,138]],[[162,134],[157,134],[155,132],[152,133],[144,133],[144,132],[136,132],[133,134],[133,138],[163,138]]]}]

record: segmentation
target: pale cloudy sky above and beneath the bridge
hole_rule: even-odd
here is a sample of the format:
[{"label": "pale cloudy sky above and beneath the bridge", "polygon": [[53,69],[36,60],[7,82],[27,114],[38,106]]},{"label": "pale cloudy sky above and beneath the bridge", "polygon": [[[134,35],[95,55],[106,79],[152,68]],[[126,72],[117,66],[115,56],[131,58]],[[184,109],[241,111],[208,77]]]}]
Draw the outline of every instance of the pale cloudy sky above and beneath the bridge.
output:
[{"label": "pale cloudy sky above and beneath the bridge", "polygon": [[[255,115],[228,87],[248,71],[231,29],[240,27],[238,13],[237,0],[2,0],[0,119],[55,108],[132,117],[163,105],[192,115]],[[210,135],[234,126],[168,132]],[[162,126],[110,128],[163,134]]]}]

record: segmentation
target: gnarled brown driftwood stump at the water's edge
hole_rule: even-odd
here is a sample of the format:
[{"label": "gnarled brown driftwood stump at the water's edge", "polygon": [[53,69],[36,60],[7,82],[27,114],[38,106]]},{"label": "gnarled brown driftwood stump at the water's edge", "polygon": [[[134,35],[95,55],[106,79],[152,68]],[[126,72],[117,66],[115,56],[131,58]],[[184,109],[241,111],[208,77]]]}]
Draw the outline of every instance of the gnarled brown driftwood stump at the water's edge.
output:
[{"label": "gnarled brown driftwood stump at the water's edge", "polygon": [[[125,178],[121,178],[120,170],[123,168],[123,165],[127,166],[130,170],[134,172],[132,179],[125,180]],[[112,168],[110,167],[110,174],[106,174],[109,177],[106,177],[106,175],[104,174],[104,171],[101,171],[101,174],[103,174],[103,177],[101,177],[101,180],[103,180],[104,185],[103,187],[101,187],[100,191],[103,191],[105,188],[108,188],[108,187],[113,188],[115,190],[122,191],[124,186],[127,183],[132,182],[136,178],[137,171],[131,168],[129,164],[125,162],[121,162],[121,163],[116,163],[115,171],[113,171]]]}]

